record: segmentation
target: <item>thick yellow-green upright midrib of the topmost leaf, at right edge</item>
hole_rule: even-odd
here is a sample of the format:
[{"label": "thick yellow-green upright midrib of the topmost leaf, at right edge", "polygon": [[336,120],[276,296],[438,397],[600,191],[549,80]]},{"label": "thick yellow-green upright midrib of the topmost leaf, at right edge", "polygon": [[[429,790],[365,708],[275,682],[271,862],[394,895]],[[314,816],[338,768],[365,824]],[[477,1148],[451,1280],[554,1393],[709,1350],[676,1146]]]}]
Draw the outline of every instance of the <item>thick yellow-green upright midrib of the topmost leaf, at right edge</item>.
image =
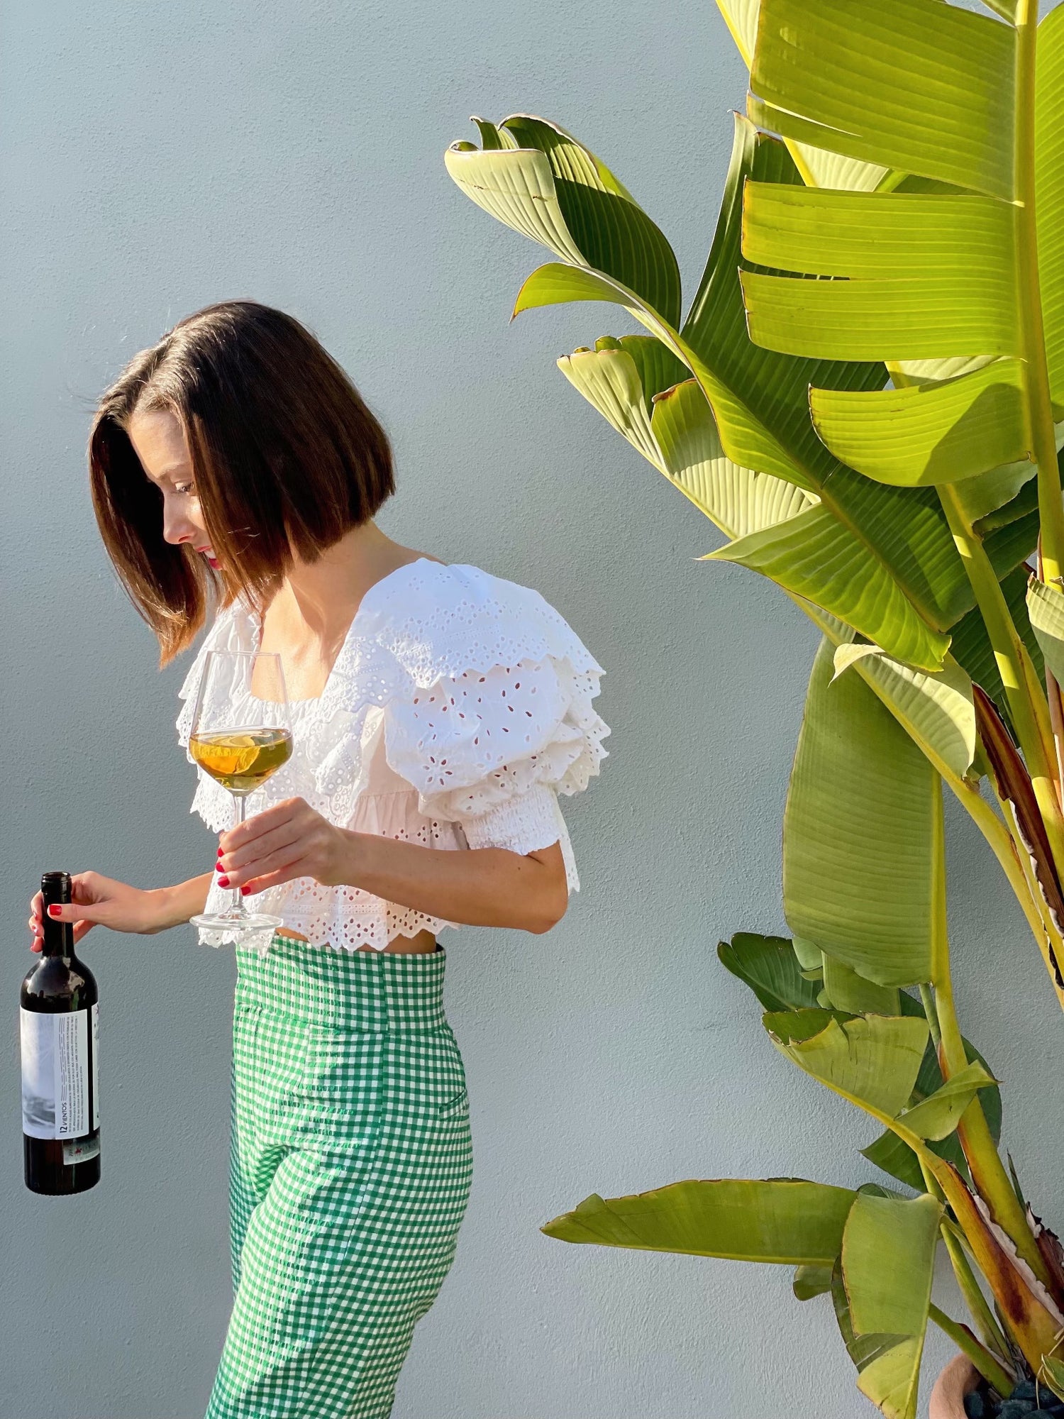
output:
[{"label": "thick yellow-green upright midrib of the topmost leaf, at right edge", "polygon": [[1038,3],[1019,0],[1016,13],[1016,255],[1017,305],[1023,377],[1031,424],[1034,461],[1038,465],[1038,521],[1044,580],[1064,575],[1064,507],[1060,497],[1057,440],[1053,427],[1050,379],[1046,365],[1046,332],[1038,282],[1038,233],[1034,206],[1034,68]]}]

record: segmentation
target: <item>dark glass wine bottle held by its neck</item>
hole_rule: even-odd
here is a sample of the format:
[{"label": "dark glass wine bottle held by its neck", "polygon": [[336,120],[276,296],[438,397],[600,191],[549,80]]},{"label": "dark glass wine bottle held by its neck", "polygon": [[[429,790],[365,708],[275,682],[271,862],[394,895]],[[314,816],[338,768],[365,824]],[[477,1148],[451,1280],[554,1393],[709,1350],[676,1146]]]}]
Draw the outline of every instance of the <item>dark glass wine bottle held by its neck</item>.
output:
[{"label": "dark glass wine bottle held by its neck", "polygon": [[26,1186],[57,1196],[99,1182],[99,996],[74,954],[74,924],[48,915],[71,900],[70,873],[45,873],[41,895],[41,959],[18,1002],[23,1159]]}]

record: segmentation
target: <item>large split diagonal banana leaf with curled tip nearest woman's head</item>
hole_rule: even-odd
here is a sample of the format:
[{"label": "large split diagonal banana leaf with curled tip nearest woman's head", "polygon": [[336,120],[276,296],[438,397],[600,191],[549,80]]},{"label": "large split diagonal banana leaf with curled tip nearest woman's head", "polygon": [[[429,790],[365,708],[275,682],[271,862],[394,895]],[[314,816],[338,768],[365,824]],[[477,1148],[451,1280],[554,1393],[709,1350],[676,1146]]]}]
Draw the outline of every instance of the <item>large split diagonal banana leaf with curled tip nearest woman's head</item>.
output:
[{"label": "large split diagonal banana leaf with curled tip nearest woman's head", "polygon": [[[745,119],[736,119],[735,149],[725,204],[705,274],[687,321],[677,329],[643,291],[630,282],[638,267],[640,244],[658,248],[657,228],[637,223],[631,201],[609,196],[621,213],[613,227],[613,248],[599,250],[596,267],[580,250],[565,221],[560,196],[550,177],[560,172],[562,158],[577,153],[565,166],[566,201],[576,207],[580,183],[573,175],[594,173],[599,160],[569,135],[531,119],[506,121],[494,133],[518,125],[525,148],[475,149],[454,145],[447,153],[451,176],[468,196],[508,226],[531,236],[560,257],[563,265],[541,268],[526,282],[516,309],[559,301],[594,299],[624,305],[694,375],[708,399],[715,434],[709,451],[702,424],[694,436],[685,414],[697,406],[689,396],[658,420],[651,414],[655,396],[668,387],[651,387],[645,370],[617,359],[617,342],[609,348],[580,350],[562,368],[573,383],[599,407],[633,444],[688,492],[702,481],[706,464],[716,463],[718,444],[739,478],[773,475],[804,490],[799,515],[813,518],[813,538],[806,525],[775,542],[769,552],[749,538],[763,535],[765,522],[735,528],[739,536],[733,559],[772,575],[786,589],[806,596],[840,619],[854,624],[899,660],[936,668],[946,647],[943,631],[970,606],[970,587],[933,495],[921,488],[887,488],[860,477],[833,458],[813,430],[807,389],[834,387],[872,390],[882,386],[885,370],[875,362],[806,360],[779,356],[753,345],[745,328],[742,292],[736,278],[742,184],[746,177],[800,184],[794,163],[782,143],[758,135]],[[515,142],[516,139],[514,139]],[[538,146],[535,146],[538,145]],[[590,196],[587,196],[590,194]],[[594,184],[586,186],[587,211],[603,210],[607,199]],[[611,210],[611,209],[610,209]],[[576,223],[576,217],[570,219]],[[653,227],[653,231],[651,231]],[[609,260],[606,258],[609,255]],[[661,375],[661,362],[657,362]],[[636,376],[638,375],[638,382]],[[654,437],[660,423],[661,440]],[[665,447],[663,447],[663,444]],[[692,446],[695,451],[692,454]],[[695,465],[699,471],[687,474]],[[719,487],[722,473],[711,468]],[[711,477],[712,482],[714,478]],[[732,477],[735,482],[735,477]],[[695,497],[704,511],[714,499]],[[804,508],[804,514],[802,509]],[[789,511],[794,511],[794,505]],[[711,512],[712,515],[712,512]],[[731,532],[726,518],[715,518]],[[779,517],[776,518],[779,521]],[[857,593],[860,589],[860,595]]]}]

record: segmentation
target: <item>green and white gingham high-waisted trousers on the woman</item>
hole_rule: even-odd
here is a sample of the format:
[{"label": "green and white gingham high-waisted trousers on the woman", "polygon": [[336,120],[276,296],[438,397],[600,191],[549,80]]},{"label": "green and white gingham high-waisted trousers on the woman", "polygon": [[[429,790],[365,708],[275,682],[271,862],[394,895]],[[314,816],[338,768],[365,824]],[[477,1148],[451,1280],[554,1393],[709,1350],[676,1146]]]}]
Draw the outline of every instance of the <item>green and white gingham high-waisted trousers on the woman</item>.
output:
[{"label": "green and white gingham high-waisted trousers on the woman", "polygon": [[472,1176],[445,952],[237,948],[235,1298],[207,1419],[384,1419]]}]

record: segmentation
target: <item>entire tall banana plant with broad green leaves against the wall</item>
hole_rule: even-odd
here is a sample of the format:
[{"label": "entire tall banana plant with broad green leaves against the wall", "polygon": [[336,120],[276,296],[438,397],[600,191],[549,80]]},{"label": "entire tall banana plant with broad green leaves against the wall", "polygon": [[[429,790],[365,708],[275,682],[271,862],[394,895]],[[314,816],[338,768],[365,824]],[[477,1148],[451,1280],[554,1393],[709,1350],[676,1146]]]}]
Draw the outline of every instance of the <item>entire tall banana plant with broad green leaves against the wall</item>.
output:
[{"label": "entire tall banana plant with broad green leaves against the wall", "polygon": [[[562,373],[724,532],[709,561],[772,579],[821,631],[785,819],[792,939],[758,948],[807,989],[765,1026],[878,1120],[867,1156],[919,1195],[688,1182],[548,1230],[793,1261],[891,1416],[915,1413],[928,1315],[996,1388],[1060,1391],[1060,1253],[953,1010],[942,785],[1064,1005],[1064,7],[718,4],[750,92],[685,314],[667,238],[563,128],[475,119],[480,146],[445,162],[553,257],[515,315],[610,302],[641,328]],[[935,1237],[975,1330],[925,1296]]]}]

